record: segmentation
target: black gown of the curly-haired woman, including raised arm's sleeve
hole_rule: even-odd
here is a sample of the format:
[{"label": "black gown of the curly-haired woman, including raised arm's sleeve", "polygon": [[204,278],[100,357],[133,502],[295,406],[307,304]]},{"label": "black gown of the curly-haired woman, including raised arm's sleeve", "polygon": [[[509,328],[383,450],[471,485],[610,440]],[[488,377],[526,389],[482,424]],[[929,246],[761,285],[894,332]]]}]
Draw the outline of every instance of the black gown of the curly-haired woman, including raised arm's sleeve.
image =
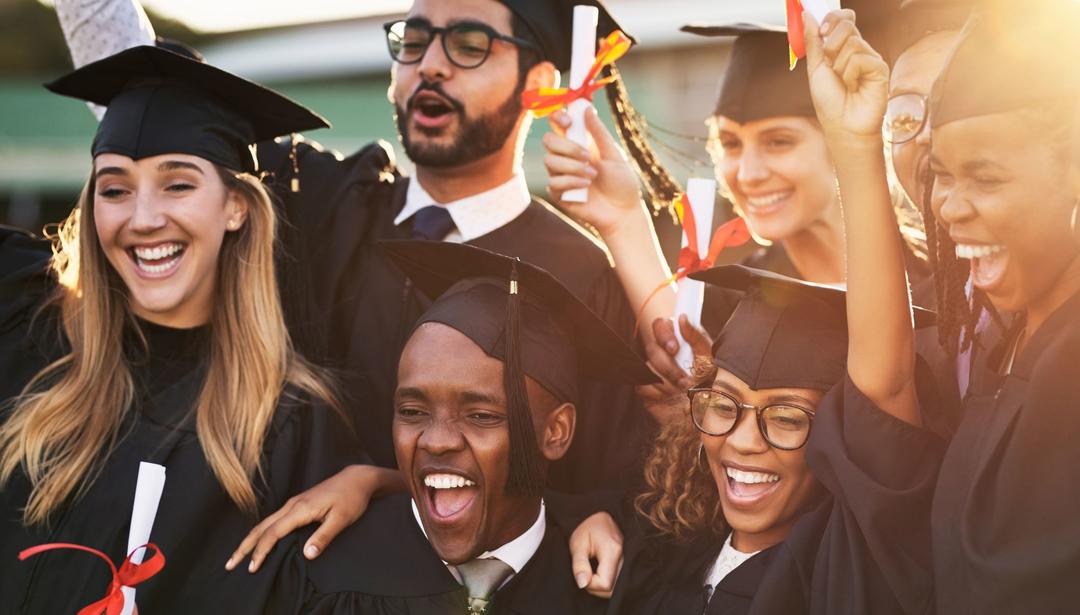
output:
[{"label": "black gown of the curly-haired woman, including raised arm's sleeve", "polygon": [[[920,399],[935,401],[933,385],[926,386]],[[855,431],[861,437],[852,440]],[[819,405],[807,444],[824,493],[784,542],[729,573],[707,611],[704,579],[723,540],[653,537],[651,549],[627,547],[609,613],[926,613],[933,600],[928,513],[942,449],[845,378]]]}]

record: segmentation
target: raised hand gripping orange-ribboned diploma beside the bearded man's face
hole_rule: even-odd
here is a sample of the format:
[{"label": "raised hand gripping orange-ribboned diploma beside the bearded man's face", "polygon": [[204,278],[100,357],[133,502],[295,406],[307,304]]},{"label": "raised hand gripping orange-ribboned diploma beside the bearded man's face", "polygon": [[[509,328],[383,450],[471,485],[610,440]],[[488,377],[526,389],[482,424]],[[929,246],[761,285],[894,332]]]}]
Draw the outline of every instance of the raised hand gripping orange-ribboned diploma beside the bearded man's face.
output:
[{"label": "raised hand gripping orange-ribboned diploma beside the bearded man's face", "polygon": [[[585,222],[607,237],[619,230],[627,218],[645,215],[637,175],[615,137],[596,116],[585,113],[585,126],[595,144],[582,147],[566,137],[570,117],[556,111],[549,118],[551,131],[543,136],[548,192],[559,208]],[[570,203],[562,200],[567,190],[589,188],[589,200]]]}]

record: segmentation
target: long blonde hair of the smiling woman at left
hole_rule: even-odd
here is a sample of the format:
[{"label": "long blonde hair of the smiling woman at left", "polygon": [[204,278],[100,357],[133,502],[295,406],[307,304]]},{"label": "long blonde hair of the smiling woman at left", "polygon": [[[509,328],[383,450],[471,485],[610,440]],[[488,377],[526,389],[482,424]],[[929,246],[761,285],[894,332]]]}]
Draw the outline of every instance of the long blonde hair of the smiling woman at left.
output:
[{"label": "long blonde hair of the smiling woman at left", "polygon": [[[217,169],[248,205],[246,223],[226,236],[217,266],[205,383],[195,402],[203,454],[229,497],[257,516],[254,479],[279,397],[288,384],[335,404],[327,380],[293,350],[274,272],[276,216],[255,177]],[[42,370],[0,426],[0,484],[22,467],[32,491],[27,525],[48,523],[83,495],[133,412],[135,385],[123,351],[134,324],[127,293],[94,226],[94,179],[60,225],[52,260],[54,302],[70,352]]]}]

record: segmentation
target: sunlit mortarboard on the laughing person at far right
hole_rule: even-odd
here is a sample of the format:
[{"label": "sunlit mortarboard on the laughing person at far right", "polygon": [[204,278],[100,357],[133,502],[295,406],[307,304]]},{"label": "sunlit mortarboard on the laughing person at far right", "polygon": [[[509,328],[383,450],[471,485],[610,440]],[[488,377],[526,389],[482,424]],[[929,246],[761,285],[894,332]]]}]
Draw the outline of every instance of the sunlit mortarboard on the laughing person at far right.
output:
[{"label": "sunlit mortarboard on the laughing person at far right", "polygon": [[933,128],[1075,95],[1074,0],[984,2],[930,95]]}]

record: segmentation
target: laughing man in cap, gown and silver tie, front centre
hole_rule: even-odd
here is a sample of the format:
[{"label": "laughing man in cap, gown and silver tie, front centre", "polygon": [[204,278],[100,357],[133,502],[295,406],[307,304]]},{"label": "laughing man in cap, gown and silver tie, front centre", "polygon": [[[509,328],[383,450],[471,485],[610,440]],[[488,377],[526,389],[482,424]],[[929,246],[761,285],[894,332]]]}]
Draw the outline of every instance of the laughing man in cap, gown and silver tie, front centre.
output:
[{"label": "laughing man in cap, gown and silver tie, front centre", "polygon": [[541,493],[575,438],[580,376],[656,376],[540,268],[446,242],[384,245],[437,297],[399,364],[394,452],[409,495],[375,502],[315,561],[295,543],[274,613],[602,613]]}]

